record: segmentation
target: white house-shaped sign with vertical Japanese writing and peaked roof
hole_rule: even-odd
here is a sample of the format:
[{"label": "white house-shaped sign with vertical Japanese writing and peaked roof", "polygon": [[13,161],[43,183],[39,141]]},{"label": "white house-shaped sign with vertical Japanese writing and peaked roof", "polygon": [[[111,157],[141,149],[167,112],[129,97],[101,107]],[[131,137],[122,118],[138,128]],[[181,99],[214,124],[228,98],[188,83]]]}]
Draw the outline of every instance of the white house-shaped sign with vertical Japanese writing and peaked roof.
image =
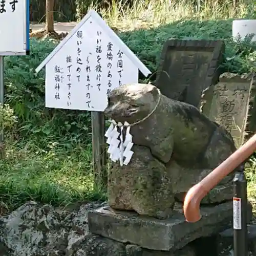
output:
[{"label": "white house-shaped sign with vertical Japanese writing and peaked roof", "polygon": [[36,69],[46,65],[46,106],[104,111],[108,93],[151,72],[95,12],[60,42]]}]

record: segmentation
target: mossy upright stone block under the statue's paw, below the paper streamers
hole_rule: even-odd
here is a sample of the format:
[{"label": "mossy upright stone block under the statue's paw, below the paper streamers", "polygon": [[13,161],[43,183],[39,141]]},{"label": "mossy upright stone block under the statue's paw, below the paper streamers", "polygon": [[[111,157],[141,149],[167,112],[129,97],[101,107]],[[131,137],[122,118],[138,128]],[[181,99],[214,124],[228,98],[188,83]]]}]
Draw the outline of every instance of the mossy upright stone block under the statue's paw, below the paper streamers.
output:
[{"label": "mossy upright stone block under the statue's paw, below the paper streamers", "polygon": [[114,164],[109,173],[109,203],[119,210],[135,210],[140,215],[165,219],[172,214],[172,177],[151,155],[150,149],[134,145],[127,166]]}]

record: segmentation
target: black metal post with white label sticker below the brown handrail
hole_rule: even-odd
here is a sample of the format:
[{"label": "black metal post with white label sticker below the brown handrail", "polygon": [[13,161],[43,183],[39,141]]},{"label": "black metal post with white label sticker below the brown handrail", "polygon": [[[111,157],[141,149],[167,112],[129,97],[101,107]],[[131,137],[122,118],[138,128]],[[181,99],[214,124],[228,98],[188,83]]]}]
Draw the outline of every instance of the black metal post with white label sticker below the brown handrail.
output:
[{"label": "black metal post with white label sticker below the brown handrail", "polygon": [[234,176],[233,234],[234,256],[247,256],[247,181],[242,164]]}]

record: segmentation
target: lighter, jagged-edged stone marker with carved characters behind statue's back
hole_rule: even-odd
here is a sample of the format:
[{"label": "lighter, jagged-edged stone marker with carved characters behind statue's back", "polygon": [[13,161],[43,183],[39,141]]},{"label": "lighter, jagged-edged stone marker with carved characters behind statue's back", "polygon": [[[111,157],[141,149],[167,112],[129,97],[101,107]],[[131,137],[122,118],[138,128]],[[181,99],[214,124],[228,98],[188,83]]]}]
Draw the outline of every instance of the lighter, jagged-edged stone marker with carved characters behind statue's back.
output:
[{"label": "lighter, jagged-edged stone marker with carved characters behind statue's back", "polygon": [[[205,93],[203,114],[230,132],[237,147],[244,142],[253,81],[252,74],[224,73],[219,83]],[[207,100],[210,95],[212,99]]]}]

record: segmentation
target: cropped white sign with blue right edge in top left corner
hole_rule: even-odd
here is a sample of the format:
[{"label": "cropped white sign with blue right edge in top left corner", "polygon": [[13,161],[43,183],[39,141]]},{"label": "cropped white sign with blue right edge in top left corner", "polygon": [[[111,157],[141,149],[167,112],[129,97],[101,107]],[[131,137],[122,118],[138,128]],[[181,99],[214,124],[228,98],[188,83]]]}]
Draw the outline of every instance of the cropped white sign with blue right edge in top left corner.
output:
[{"label": "cropped white sign with blue right edge in top left corner", "polygon": [[0,0],[0,55],[29,50],[29,0]]}]

